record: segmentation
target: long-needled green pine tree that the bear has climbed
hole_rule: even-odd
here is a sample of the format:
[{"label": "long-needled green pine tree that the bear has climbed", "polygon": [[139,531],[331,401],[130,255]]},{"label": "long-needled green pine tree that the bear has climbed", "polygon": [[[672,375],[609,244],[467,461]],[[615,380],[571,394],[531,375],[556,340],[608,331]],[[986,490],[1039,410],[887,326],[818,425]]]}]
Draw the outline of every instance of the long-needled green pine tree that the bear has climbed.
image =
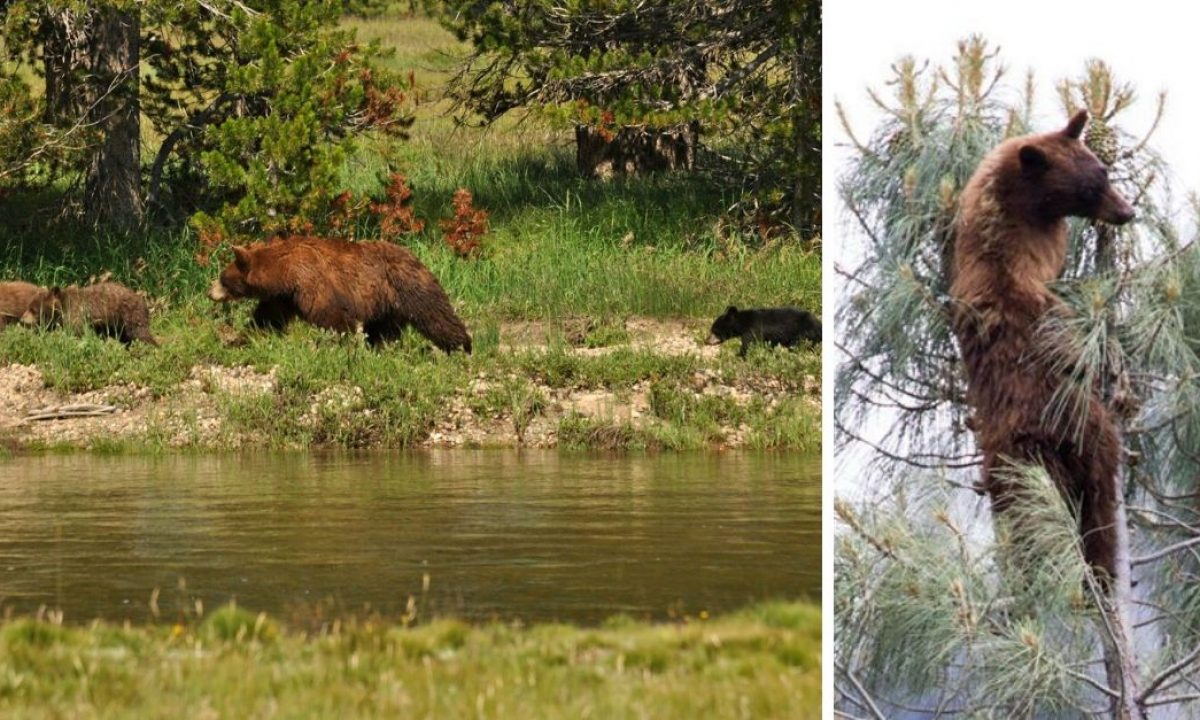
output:
[{"label": "long-needled green pine tree that the bear has climbed", "polygon": [[840,272],[834,412],[839,452],[868,462],[875,481],[836,502],[838,704],[880,718],[1178,710],[1200,683],[1200,252],[1168,211],[1153,127],[1133,137],[1122,126],[1133,88],[1088,62],[1060,84],[1061,116],[1086,107],[1099,120],[1087,142],[1139,221],[1072,223],[1055,289],[1074,314],[1052,330],[1079,358],[1064,370],[1098,383],[1121,421],[1121,530],[1138,584],[1108,598],[1042,468],[1020,472],[1003,523],[974,487],[948,270],[958,193],[986,151],[1034,130],[1033,77],[1015,89],[1007,78],[978,37],[946,67],[902,59],[894,97],[871,95],[886,119],[869,138],[851,132],[838,192],[864,247]]}]

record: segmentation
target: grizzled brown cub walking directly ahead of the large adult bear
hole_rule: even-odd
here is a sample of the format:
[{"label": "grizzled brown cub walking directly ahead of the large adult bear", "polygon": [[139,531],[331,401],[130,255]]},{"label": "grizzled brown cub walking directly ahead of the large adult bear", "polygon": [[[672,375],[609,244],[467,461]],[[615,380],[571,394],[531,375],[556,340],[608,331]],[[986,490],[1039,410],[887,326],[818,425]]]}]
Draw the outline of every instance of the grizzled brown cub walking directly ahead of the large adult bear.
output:
[{"label": "grizzled brown cub walking directly ahead of the large adult bear", "polygon": [[42,290],[22,322],[43,328],[64,325],[74,332],[91,328],[125,344],[134,340],[158,344],[150,335],[150,308],[145,298],[118,282]]}]

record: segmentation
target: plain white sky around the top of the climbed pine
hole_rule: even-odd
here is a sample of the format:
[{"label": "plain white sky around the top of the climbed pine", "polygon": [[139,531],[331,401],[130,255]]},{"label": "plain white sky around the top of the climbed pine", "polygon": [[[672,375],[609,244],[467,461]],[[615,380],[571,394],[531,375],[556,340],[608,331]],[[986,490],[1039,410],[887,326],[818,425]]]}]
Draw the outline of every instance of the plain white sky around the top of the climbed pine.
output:
[{"label": "plain white sky around the top of the climbed pine", "polygon": [[[1091,58],[1105,60],[1118,80],[1129,82],[1138,101],[1122,114],[1122,127],[1140,137],[1153,120],[1156,97],[1166,91],[1166,113],[1152,146],[1166,158],[1175,198],[1200,191],[1200,72],[1194,61],[1200,52],[1194,6],[1184,2],[1141,0],[1121,5],[1106,0],[1054,2],[1008,0],[958,2],[948,0],[829,0],[824,4],[824,58],[822,95],[824,102],[823,215],[822,240],[826,252],[826,323],[833,328],[833,311],[840,283],[833,263],[852,259],[854,227],[836,197],[836,180],[850,154],[847,136],[838,120],[834,102],[840,102],[856,136],[870,137],[881,112],[868,98],[874,88],[884,97],[890,88],[890,66],[904,55],[930,60],[931,66],[953,59],[959,40],[983,35],[998,46],[1007,67],[1010,98],[1019,100],[1028,70],[1034,72],[1038,95],[1034,128],[1061,127],[1066,116],[1058,104],[1055,84],[1076,78]],[[1080,12],[1082,11],[1082,12]],[[1006,82],[1002,80],[1002,84]],[[852,264],[852,263],[846,263]],[[832,391],[836,359],[833,343],[824,344],[827,388]],[[832,392],[827,392],[832,398]],[[827,410],[832,410],[827,403]],[[828,418],[829,413],[827,413]],[[870,428],[862,428],[872,437]],[[832,437],[832,421],[824,425]],[[827,446],[832,450],[832,446]],[[827,454],[829,457],[829,454]],[[860,462],[827,464],[827,487],[857,494],[862,480]]]}]

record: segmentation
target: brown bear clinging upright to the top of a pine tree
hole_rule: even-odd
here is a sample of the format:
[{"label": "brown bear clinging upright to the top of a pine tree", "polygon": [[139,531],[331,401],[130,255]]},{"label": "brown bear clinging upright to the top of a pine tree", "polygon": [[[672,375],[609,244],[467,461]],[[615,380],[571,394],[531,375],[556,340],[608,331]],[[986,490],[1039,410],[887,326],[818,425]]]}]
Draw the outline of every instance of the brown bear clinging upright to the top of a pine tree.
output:
[{"label": "brown bear clinging upright to the top of a pine tree", "polygon": [[1013,503],[1009,461],[1042,464],[1079,509],[1084,556],[1103,578],[1116,576],[1120,439],[1094,389],[1082,389],[1084,418],[1054,419],[1048,406],[1069,379],[1039,331],[1046,313],[1069,312],[1048,287],[1063,270],[1066,218],[1134,217],[1080,142],[1086,121],[1081,110],[1064,130],[1006,140],[979,163],[962,191],[950,295],[994,511]]}]

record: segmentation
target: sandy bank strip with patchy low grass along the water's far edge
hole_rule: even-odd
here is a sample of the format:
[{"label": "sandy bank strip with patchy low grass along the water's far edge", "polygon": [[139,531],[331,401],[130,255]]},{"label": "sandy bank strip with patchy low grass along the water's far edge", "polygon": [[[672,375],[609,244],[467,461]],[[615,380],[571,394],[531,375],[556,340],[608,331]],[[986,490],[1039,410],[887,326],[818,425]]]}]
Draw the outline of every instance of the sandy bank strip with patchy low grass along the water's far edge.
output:
[{"label": "sandy bank strip with patchy low grass along the water's far edge", "polygon": [[[700,346],[703,322],[630,325],[580,331],[578,344],[557,324],[496,325],[476,334],[482,347],[469,358],[415,338],[374,352],[310,328],[230,347],[218,324],[182,318],[174,332],[156,328],[162,347],[131,350],[12,330],[0,336],[8,362],[0,367],[0,439],[140,450],[820,448],[816,350],[762,348],[743,360],[736,347]],[[517,344],[506,344],[509,335]],[[68,404],[115,412],[26,420]]]}]

